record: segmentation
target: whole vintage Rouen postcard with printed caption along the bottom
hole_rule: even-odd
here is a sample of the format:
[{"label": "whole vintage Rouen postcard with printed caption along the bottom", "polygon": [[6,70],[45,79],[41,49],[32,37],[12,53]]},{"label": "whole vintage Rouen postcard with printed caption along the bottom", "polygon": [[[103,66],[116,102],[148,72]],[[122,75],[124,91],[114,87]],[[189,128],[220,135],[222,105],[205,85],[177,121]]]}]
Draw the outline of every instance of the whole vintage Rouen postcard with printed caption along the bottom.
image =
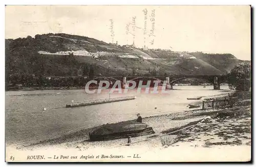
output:
[{"label": "whole vintage Rouen postcard with printed caption along the bottom", "polygon": [[251,160],[251,6],[5,15],[6,162]]}]

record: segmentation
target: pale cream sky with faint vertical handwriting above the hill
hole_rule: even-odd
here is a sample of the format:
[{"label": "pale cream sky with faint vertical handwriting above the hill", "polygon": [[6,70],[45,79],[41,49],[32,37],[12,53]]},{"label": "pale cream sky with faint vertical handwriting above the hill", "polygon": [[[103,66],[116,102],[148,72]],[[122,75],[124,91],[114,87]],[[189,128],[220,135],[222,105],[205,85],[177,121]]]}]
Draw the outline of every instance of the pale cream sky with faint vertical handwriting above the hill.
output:
[{"label": "pale cream sky with faint vertical handwriting above the hill", "polygon": [[5,38],[66,33],[251,60],[250,6],[6,6]]}]

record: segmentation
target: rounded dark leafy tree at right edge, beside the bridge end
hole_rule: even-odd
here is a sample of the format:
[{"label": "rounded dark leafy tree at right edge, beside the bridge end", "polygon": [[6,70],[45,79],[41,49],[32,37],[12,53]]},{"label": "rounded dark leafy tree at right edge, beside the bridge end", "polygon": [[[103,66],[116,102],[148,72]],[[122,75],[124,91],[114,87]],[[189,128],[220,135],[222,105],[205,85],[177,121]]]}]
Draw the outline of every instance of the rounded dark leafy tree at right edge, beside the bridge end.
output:
[{"label": "rounded dark leafy tree at right edge, beside the bridge end", "polygon": [[228,85],[230,89],[248,91],[251,87],[251,64],[239,63],[228,74]]}]

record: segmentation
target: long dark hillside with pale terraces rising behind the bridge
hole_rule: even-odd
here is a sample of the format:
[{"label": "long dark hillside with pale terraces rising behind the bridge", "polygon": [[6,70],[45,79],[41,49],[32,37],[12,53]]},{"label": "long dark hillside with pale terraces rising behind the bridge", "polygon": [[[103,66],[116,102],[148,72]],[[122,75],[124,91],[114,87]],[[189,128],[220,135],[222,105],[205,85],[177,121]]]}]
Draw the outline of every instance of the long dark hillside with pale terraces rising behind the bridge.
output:
[{"label": "long dark hillside with pale terraces rising behind the bridge", "polygon": [[241,62],[231,54],[144,51],[69,34],[43,34],[5,42],[8,83],[13,76],[69,77],[78,76],[81,70],[86,76],[90,69],[94,76],[131,76],[133,71],[137,75],[153,75],[155,64],[159,76],[220,75]]}]

